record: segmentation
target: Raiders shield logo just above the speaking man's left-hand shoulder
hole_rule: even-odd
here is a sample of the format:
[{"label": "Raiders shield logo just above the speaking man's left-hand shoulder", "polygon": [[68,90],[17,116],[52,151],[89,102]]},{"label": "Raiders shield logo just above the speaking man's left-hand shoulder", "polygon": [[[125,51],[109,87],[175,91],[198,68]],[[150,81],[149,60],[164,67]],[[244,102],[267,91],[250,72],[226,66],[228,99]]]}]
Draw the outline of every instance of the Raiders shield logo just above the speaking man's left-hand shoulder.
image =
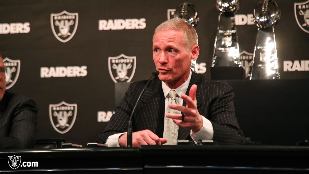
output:
[{"label": "Raiders shield logo just above the speaking man's left-hand shoulder", "polygon": [[117,57],[108,57],[108,71],[112,80],[117,82],[130,82],[136,68],[136,56],[120,54]]}]

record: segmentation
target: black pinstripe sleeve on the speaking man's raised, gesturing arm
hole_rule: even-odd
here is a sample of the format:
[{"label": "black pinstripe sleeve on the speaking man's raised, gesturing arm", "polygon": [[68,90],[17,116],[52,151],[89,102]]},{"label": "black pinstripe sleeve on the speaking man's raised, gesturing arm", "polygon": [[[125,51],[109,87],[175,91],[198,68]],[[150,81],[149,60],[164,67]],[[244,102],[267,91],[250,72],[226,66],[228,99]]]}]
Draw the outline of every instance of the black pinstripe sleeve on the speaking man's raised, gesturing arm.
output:
[{"label": "black pinstripe sleeve on the speaking man's raised, gesturing arm", "polygon": [[210,111],[210,121],[214,128],[213,140],[218,144],[243,144],[243,133],[235,117],[233,98],[232,87],[225,84]]}]

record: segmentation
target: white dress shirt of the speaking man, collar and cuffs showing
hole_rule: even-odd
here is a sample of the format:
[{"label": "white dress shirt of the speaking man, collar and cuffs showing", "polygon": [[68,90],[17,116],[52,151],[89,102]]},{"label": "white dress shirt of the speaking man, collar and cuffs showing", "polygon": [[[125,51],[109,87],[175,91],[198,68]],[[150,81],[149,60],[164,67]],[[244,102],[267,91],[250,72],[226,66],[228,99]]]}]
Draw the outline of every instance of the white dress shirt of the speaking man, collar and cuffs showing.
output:
[{"label": "white dress shirt of the speaking man, collar and cuffs showing", "polygon": [[[182,105],[183,103],[183,99],[180,97],[181,94],[185,94],[189,84],[190,84],[190,80],[191,80],[191,76],[192,76],[192,72],[190,71],[190,75],[188,77],[188,79],[182,84],[180,85],[178,88],[174,89],[177,93],[177,97],[176,100],[178,102],[179,105]],[[165,112],[164,112],[164,120],[165,120],[165,115],[169,109],[169,105],[171,104],[171,99],[168,95],[168,93],[170,92],[170,88],[165,85],[164,82],[162,82],[162,89],[163,89],[163,93],[165,96]],[[197,144],[197,141],[199,140],[212,140],[212,138],[214,137],[214,128],[211,124],[211,122],[206,119],[204,116],[203,117],[203,127],[200,131],[198,131],[197,133],[194,133],[192,130],[190,132],[190,136],[193,139],[194,143]],[[126,132],[124,132],[126,133]],[[120,147],[119,145],[119,137],[124,134],[124,133],[116,133],[114,135],[111,135],[108,137],[108,139],[106,140],[105,144],[108,145],[108,147]]]}]

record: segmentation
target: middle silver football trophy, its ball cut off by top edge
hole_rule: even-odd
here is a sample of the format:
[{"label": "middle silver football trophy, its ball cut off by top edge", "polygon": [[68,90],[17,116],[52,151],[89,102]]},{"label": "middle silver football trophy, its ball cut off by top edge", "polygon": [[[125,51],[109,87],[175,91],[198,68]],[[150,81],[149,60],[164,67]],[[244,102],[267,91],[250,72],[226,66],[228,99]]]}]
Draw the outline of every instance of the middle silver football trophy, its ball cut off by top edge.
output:
[{"label": "middle silver football trophy, its ball cut off by top edge", "polygon": [[217,0],[220,11],[211,67],[240,67],[239,46],[235,24],[238,0]]}]

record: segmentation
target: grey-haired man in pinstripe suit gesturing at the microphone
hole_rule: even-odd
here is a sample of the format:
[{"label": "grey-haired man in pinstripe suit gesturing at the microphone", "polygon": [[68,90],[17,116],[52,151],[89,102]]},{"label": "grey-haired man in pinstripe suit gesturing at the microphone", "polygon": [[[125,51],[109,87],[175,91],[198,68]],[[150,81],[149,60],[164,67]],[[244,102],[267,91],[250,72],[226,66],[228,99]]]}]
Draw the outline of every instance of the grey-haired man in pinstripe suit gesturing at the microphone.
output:
[{"label": "grey-haired man in pinstripe suit gesturing at the microphone", "polygon": [[[163,138],[168,137],[165,131],[168,119],[177,125],[178,140],[187,139],[192,144],[201,144],[201,140],[243,143],[231,86],[191,71],[191,61],[198,54],[197,33],[186,21],[167,20],[155,29],[153,60],[160,74],[142,95],[133,115],[133,146],[171,144],[173,140]],[[146,81],[138,81],[129,86],[97,142],[108,147],[127,145],[129,116],[145,84]],[[170,91],[177,93],[176,99],[171,99]],[[171,100],[178,104],[171,104]],[[180,111],[184,118],[182,114],[169,113],[170,109]]]}]

